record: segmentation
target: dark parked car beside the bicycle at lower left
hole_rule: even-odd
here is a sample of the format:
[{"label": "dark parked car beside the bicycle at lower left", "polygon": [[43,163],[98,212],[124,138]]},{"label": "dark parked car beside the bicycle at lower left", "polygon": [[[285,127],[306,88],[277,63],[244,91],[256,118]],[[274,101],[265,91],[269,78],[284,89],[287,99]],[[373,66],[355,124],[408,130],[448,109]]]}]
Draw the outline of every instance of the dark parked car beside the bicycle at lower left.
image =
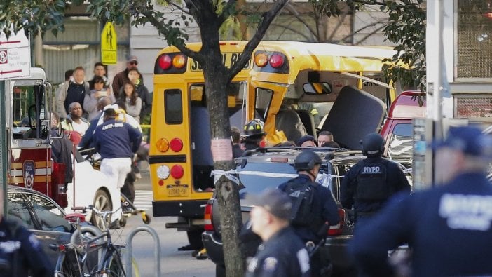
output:
[{"label": "dark parked car beside the bicycle at lower left", "polygon": [[45,194],[24,187],[8,185],[6,199],[6,217],[32,231],[54,265],[58,252],[50,249],[49,245],[69,243],[71,233],[75,231],[64,219],[64,210]]}]

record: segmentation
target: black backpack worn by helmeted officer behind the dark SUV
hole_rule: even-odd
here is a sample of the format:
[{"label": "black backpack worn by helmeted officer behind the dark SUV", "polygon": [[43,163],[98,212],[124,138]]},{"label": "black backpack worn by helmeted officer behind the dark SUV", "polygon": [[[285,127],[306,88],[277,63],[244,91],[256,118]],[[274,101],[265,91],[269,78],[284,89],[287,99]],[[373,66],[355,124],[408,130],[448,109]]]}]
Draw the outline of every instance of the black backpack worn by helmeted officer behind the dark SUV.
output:
[{"label": "black backpack worn by helmeted officer behind the dark SUV", "polygon": [[295,181],[287,182],[285,193],[292,201],[291,223],[294,227],[310,227],[313,224],[312,212],[315,188],[311,182],[303,184]]}]

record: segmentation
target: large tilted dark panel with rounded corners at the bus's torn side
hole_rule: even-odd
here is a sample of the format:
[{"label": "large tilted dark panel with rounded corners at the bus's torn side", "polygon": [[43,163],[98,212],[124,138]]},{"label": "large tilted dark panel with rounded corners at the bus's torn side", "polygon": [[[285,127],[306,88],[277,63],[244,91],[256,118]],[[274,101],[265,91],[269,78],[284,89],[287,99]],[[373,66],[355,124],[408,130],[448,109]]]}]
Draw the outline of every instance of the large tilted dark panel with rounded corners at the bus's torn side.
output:
[{"label": "large tilted dark panel with rounded corners at the bus's torn side", "polygon": [[341,147],[361,149],[362,137],[377,132],[385,115],[385,104],[378,97],[353,86],[345,86],[321,129],[332,132]]}]

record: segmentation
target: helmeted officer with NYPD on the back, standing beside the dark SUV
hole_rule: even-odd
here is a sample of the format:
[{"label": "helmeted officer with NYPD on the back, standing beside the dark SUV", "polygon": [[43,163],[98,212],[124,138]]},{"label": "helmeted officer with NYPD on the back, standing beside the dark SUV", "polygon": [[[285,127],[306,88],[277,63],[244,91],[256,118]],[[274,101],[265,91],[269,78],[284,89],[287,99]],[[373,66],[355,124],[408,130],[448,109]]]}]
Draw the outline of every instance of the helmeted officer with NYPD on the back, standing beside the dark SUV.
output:
[{"label": "helmeted officer with NYPD on the back, standing beside the dark SUV", "polygon": [[410,193],[410,184],[397,163],[382,157],[383,137],[370,133],[361,143],[362,154],[367,158],[348,170],[340,187],[341,205],[353,208],[357,227],[370,220],[393,194]]}]

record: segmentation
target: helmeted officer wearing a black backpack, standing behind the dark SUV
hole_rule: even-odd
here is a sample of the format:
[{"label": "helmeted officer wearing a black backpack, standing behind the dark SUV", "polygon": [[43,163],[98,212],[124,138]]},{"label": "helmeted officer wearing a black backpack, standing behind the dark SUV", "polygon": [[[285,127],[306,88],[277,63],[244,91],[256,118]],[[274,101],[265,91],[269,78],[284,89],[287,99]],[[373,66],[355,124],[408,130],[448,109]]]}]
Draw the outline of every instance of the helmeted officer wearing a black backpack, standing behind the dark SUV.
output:
[{"label": "helmeted officer wearing a black backpack, standing behind the dark SUV", "polygon": [[[332,193],[314,182],[321,163],[320,156],[314,151],[302,151],[294,160],[294,169],[299,176],[278,186],[292,200],[292,227],[304,243],[320,243],[327,234],[327,227],[338,224],[340,220]],[[320,274],[320,258],[319,253],[311,258],[313,276]]]}]

